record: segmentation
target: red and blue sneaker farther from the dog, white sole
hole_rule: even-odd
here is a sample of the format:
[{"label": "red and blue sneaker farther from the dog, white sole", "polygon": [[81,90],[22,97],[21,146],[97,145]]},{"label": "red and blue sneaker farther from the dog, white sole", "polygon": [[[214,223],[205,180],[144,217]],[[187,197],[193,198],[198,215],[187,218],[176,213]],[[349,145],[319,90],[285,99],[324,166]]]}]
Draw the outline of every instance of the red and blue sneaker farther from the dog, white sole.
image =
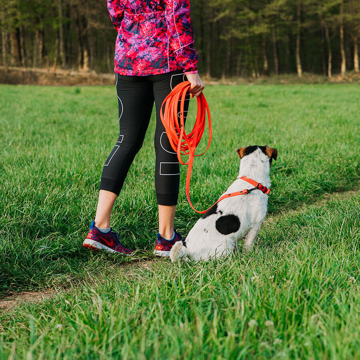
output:
[{"label": "red and blue sneaker farther from the dog, white sole", "polygon": [[111,229],[109,232],[101,232],[91,222],[89,232],[82,243],[82,246],[90,250],[105,250],[108,252],[117,252],[125,255],[131,254],[133,250],[123,247],[120,244],[119,235]]}]

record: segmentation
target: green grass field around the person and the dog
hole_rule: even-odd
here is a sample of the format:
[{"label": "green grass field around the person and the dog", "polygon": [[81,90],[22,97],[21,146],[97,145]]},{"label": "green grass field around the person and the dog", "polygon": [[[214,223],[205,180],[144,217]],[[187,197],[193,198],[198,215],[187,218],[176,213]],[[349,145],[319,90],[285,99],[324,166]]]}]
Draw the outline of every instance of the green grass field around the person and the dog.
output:
[{"label": "green grass field around the person and the dog", "polygon": [[[0,85],[0,359],[359,359],[358,85],[207,86],[213,138],[191,200],[212,204],[235,149],[278,149],[251,253],[197,264],[152,255],[152,118],[112,226],[134,256],[81,246],[117,139],[109,87]],[[191,110],[193,111],[193,106]],[[202,145],[204,146],[204,144]],[[198,215],[184,193],[176,228]]]}]

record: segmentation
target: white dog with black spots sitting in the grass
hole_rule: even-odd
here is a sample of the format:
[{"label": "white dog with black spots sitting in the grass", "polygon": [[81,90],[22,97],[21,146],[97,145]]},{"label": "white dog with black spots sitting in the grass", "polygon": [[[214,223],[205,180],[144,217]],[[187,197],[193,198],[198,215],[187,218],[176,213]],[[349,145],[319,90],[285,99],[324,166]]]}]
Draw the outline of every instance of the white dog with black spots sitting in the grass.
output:
[{"label": "white dog with black spots sitting in the grass", "polygon": [[240,157],[236,180],[189,231],[184,242],[177,241],[170,251],[171,261],[207,260],[229,254],[237,241],[250,250],[266,215],[270,187],[269,170],[277,149],[247,146],[237,149]]}]

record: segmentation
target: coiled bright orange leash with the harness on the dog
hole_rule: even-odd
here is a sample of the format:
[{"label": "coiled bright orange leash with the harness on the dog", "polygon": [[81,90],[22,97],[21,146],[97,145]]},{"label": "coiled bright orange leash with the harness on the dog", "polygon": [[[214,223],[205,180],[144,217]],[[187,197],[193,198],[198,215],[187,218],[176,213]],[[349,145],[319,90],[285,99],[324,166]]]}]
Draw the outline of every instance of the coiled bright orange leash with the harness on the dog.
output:
[{"label": "coiled bright orange leash with the harness on the dog", "polygon": [[[192,128],[192,131],[189,134],[186,134],[184,128],[185,127],[184,104],[185,104],[185,95],[189,88],[190,88],[190,82],[183,81],[172,89],[172,91],[165,97],[164,101],[162,102],[160,108],[160,118],[163,126],[165,127],[166,135],[169,139],[170,145],[172,149],[177,153],[177,158],[179,162],[182,165],[187,165],[186,185],[185,185],[186,197],[192,209],[198,213],[205,213],[214,204],[216,204],[217,202],[221,201],[226,197],[244,195],[255,189],[259,189],[268,195],[271,191],[270,189],[248,177],[243,176],[239,178],[252,184],[254,186],[253,188],[224,194],[220,196],[220,198],[213,205],[211,205],[208,209],[203,211],[197,211],[192,206],[190,200],[190,177],[191,177],[193,159],[194,156],[203,155],[210,146],[211,118],[205,96],[201,93],[196,98],[197,113],[196,113],[194,126]],[[179,101],[180,101],[180,110],[178,109]],[[164,106],[164,110],[163,110],[163,106]],[[196,146],[200,142],[201,136],[205,129],[206,113],[207,113],[208,131],[209,131],[207,147],[204,152],[195,155]],[[180,121],[178,121],[178,115]],[[188,155],[188,159],[186,162],[182,161],[181,155]]]}]

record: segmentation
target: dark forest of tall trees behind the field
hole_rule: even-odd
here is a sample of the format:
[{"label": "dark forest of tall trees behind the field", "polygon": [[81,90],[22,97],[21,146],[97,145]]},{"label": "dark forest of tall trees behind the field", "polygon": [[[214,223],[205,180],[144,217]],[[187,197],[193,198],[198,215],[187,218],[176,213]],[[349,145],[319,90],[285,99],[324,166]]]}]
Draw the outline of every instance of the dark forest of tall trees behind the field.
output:
[{"label": "dark forest of tall trees behind the field", "polygon": [[[190,0],[199,72],[359,71],[360,0]],[[0,0],[0,65],[113,71],[106,0]]]}]

